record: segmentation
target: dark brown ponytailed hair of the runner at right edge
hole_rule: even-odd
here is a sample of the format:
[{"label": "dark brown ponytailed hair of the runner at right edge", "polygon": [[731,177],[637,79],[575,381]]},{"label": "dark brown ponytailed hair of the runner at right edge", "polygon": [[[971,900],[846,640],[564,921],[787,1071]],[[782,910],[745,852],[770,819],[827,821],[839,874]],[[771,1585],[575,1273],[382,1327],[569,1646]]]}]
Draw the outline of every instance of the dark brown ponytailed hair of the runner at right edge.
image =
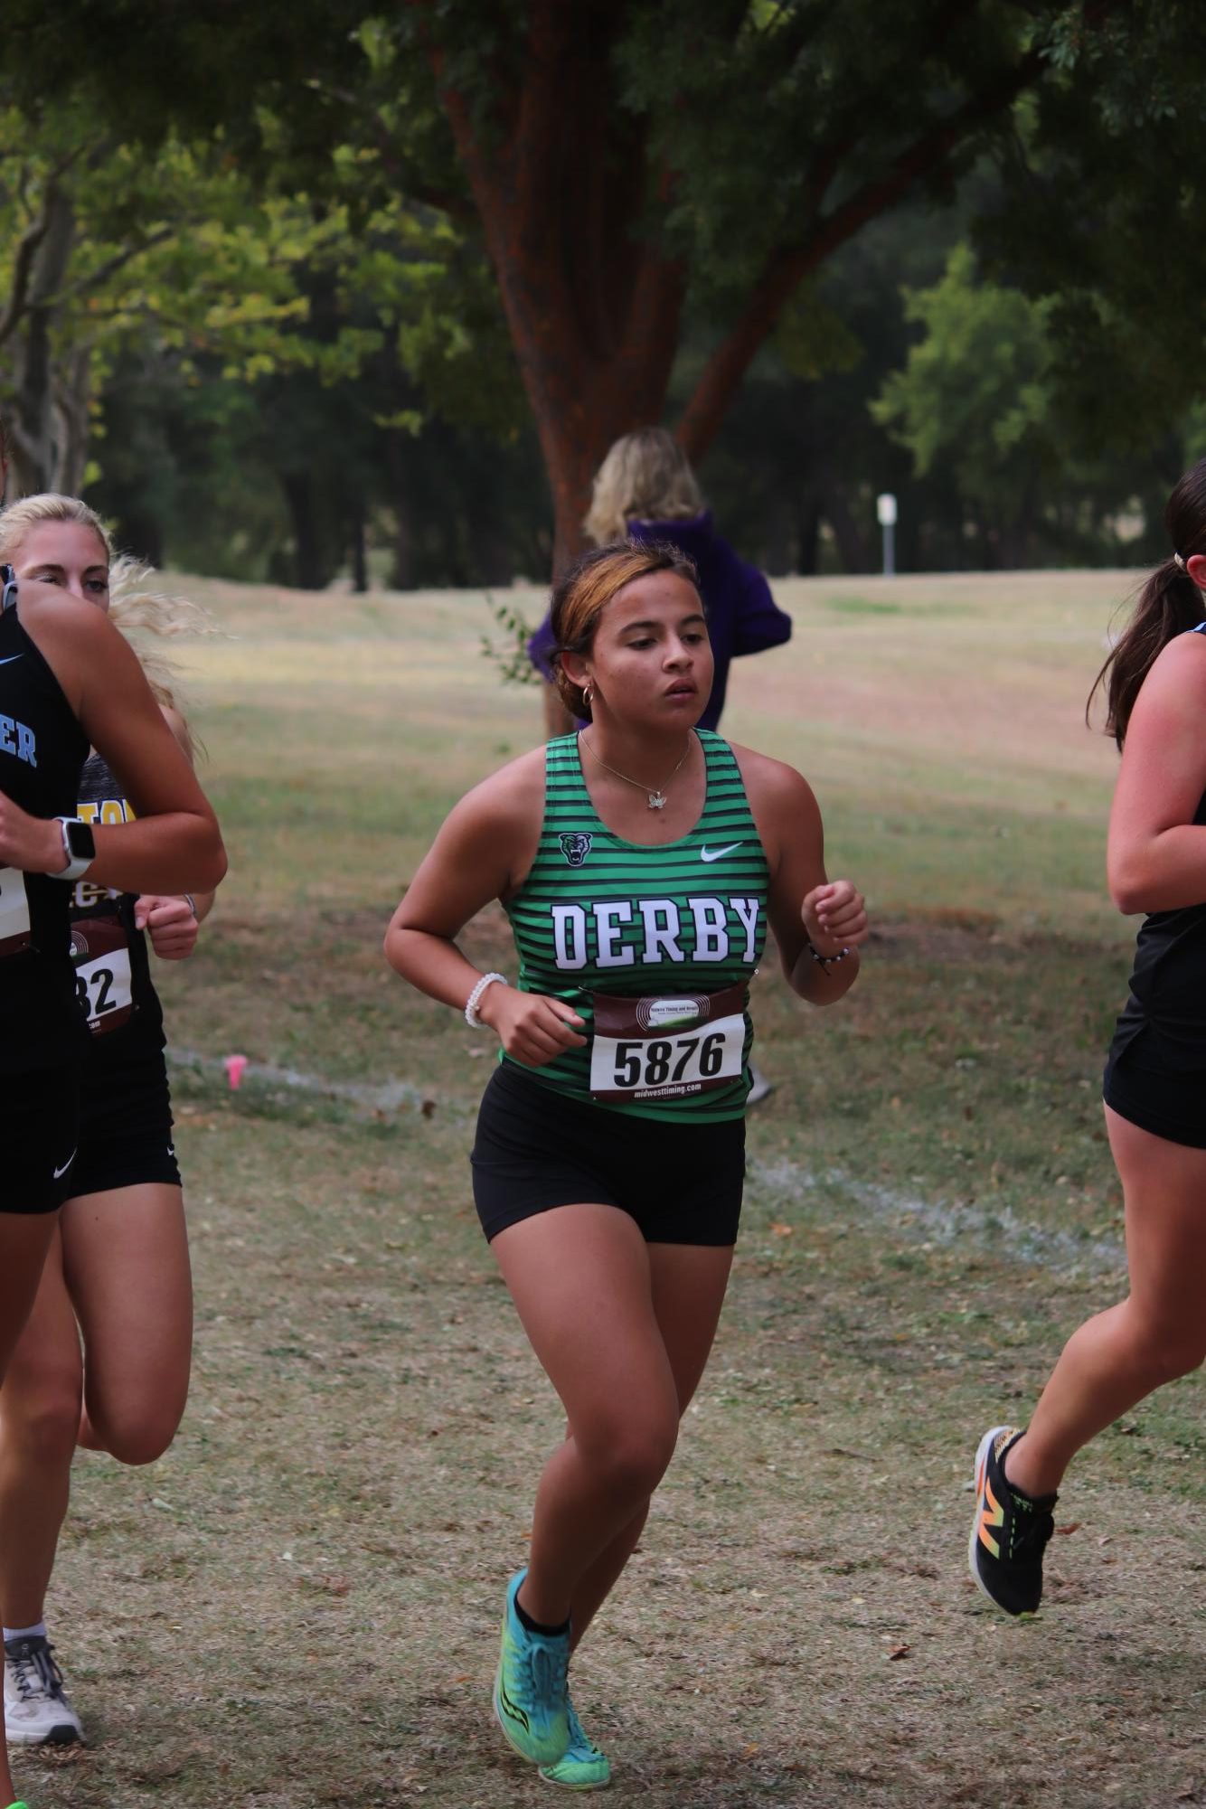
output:
[{"label": "dark brown ponytailed hair of the runner at right edge", "polygon": [[[1177,481],[1164,508],[1164,526],[1182,561],[1192,559],[1193,554],[1206,554],[1206,458],[1199,459]],[[1094,678],[1085,706],[1085,716],[1088,716],[1098,689],[1105,686],[1105,733],[1112,734],[1119,747],[1126,740],[1126,724],[1135,707],[1139,686],[1157,657],[1177,635],[1197,628],[1202,617],[1206,617],[1202,592],[1184,564],[1179,564],[1175,557],[1164,559],[1139,592],[1130,622]]]}]

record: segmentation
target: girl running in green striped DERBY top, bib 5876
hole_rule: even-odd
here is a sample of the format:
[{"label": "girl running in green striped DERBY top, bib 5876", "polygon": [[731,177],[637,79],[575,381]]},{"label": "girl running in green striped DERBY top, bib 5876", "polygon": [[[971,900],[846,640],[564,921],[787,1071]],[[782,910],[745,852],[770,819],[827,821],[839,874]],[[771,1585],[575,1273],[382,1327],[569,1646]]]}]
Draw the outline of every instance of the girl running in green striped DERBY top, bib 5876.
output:
[{"label": "girl running in green striped DERBY top, bib 5876", "polygon": [[[716,1331],[745,1172],[749,980],[767,926],[814,1004],[850,988],[862,897],[824,877],[790,767],[696,731],[712,657],[673,546],[586,554],[551,608],[559,684],[589,718],[452,810],[391,923],[414,986],[503,1044],[474,1194],[568,1415],[506,1590],[494,1708],[551,1782],[608,1782],[570,1650],[636,1545]],[[501,899],[519,982],[454,937]]]}]

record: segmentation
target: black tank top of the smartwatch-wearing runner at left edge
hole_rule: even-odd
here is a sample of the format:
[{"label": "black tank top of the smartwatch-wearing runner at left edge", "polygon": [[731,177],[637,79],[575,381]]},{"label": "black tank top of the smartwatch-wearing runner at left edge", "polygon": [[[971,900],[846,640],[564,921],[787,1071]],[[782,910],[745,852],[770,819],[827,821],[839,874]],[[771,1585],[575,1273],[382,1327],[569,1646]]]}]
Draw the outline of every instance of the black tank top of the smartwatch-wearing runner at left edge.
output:
[{"label": "black tank top of the smartwatch-wearing runner at left edge", "polygon": [[[31,816],[74,816],[89,740],[20,624],[0,608],[0,791]],[[71,886],[0,867],[0,1073],[74,1060],[85,1042],[71,964]]]}]

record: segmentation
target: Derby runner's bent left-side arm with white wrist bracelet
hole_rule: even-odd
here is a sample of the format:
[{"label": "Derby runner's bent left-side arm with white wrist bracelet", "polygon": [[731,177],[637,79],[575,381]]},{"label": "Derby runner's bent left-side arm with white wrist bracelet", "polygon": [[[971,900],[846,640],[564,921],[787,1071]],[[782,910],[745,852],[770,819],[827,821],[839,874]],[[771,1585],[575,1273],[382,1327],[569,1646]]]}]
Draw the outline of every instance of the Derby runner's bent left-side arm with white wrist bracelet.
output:
[{"label": "Derby runner's bent left-side arm with white wrist bracelet", "polygon": [[[456,944],[465,924],[524,879],[541,834],[544,751],[524,754],[463,798],[445,819],[385,932],[385,959],[430,999],[465,1008],[483,977]],[[488,986],[477,1015],[508,1055],[539,1067],[586,1038],[559,999]]]}]

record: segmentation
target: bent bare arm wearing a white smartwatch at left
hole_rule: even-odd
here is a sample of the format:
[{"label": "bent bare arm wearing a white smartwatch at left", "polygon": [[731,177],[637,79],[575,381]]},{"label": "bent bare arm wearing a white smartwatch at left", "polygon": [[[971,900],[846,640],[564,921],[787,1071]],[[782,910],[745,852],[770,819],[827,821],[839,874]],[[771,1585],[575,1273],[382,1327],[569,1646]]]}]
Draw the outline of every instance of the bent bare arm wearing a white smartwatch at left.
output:
[{"label": "bent bare arm wearing a white smartwatch at left", "polygon": [[[137,812],[134,823],[92,827],[89,877],[123,892],[215,886],[226,872],[217,819],[128,642],[94,604],[74,597],[24,604],[22,626]],[[60,825],[0,800],[0,861],[61,872]]]}]

